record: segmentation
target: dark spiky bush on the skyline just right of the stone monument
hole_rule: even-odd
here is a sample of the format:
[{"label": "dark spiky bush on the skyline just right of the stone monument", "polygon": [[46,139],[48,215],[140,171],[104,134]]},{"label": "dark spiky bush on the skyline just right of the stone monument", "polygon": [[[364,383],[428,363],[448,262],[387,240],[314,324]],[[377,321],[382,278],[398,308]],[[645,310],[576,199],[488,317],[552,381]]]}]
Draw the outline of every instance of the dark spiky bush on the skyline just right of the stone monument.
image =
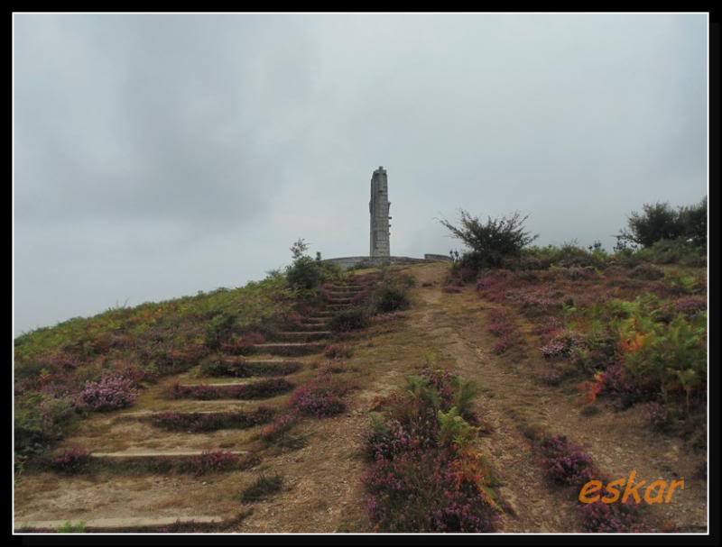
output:
[{"label": "dark spiky bush on the skyline just right of the stone monument", "polygon": [[519,257],[522,249],[538,237],[523,230],[528,216],[522,217],[519,213],[498,219],[488,217],[486,223],[464,209],[460,209],[459,214],[459,226],[446,219],[441,219],[440,223],[471,249],[462,258],[462,266],[475,269],[501,267],[504,259]]}]

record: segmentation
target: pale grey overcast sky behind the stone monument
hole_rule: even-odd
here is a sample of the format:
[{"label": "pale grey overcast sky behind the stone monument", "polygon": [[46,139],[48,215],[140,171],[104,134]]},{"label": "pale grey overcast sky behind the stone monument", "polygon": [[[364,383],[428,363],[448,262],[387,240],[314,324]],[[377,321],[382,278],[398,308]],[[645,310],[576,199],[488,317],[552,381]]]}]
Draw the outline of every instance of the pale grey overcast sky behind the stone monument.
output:
[{"label": "pale grey overcast sky behind the stone monument", "polygon": [[707,192],[704,14],[16,14],[14,333],[530,214],[589,244]]}]

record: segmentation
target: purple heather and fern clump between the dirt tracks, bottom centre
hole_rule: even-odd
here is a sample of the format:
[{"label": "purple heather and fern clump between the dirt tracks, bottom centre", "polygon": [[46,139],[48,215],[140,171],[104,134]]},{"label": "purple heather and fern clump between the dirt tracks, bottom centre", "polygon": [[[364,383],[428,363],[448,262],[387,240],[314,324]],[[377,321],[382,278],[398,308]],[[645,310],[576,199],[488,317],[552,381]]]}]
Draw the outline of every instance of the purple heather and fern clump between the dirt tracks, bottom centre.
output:
[{"label": "purple heather and fern clump between the dirt tracks, bottom centre", "polygon": [[[498,524],[495,479],[471,441],[476,428],[453,405],[459,378],[428,370],[407,379],[366,439],[373,460],[366,509],[383,532],[490,532]],[[465,397],[461,397],[465,398]]]}]

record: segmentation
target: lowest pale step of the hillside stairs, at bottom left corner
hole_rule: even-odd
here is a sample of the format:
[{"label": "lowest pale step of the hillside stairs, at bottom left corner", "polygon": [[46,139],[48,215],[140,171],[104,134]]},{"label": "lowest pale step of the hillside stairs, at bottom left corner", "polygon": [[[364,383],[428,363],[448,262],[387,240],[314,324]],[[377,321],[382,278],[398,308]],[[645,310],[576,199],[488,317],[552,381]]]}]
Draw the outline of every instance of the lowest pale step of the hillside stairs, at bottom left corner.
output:
[{"label": "lowest pale step of the hillside stairs, at bottom left corner", "polygon": [[197,516],[125,516],[111,518],[93,518],[89,520],[67,519],[67,520],[17,520],[14,523],[15,532],[50,532],[60,530],[66,524],[83,524],[86,532],[130,532],[130,531],[151,531],[157,528],[167,528],[172,525],[192,525],[195,529],[208,528],[223,523],[220,516],[197,515]]}]

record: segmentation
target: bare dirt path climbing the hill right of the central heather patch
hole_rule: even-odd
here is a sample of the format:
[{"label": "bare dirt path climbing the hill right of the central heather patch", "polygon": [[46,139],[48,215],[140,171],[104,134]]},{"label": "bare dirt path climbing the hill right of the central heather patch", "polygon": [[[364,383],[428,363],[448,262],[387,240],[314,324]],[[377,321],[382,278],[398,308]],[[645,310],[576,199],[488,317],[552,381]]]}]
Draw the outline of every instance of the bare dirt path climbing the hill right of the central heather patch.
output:
[{"label": "bare dirt path climbing the hill right of the central heather patch", "polygon": [[[420,273],[425,283],[440,283],[443,270]],[[486,305],[471,289],[446,294],[439,285],[417,292],[421,320],[415,323],[419,338],[438,347],[459,374],[482,388],[477,399],[479,414],[493,425],[484,444],[499,471],[503,496],[516,515],[505,515],[504,532],[579,531],[575,502],[542,478],[530,443],[522,433],[537,425],[561,433],[583,445],[597,465],[610,476],[621,478],[636,470],[639,479],[685,479],[685,490],[672,504],[649,507],[645,524],[656,530],[703,531],[707,523],[707,481],[695,478],[700,457],[686,451],[680,439],[651,432],[639,413],[604,408],[598,415],[579,413],[575,394],[537,382],[528,363],[509,363],[490,348],[494,339],[486,333]],[[533,351],[528,352],[534,359]]]}]

